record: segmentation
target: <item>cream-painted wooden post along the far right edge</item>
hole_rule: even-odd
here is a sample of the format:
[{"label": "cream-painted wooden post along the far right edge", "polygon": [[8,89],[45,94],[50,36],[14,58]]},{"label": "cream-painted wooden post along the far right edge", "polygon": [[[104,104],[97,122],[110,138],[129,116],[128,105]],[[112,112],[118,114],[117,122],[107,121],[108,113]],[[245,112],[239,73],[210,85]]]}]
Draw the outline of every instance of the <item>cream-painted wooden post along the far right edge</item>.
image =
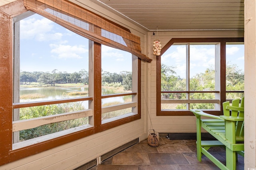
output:
[{"label": "cream-painted wooden post along the far right edge", "polygon": [[256,168],[256,2],[244,9],[244,169]]}]

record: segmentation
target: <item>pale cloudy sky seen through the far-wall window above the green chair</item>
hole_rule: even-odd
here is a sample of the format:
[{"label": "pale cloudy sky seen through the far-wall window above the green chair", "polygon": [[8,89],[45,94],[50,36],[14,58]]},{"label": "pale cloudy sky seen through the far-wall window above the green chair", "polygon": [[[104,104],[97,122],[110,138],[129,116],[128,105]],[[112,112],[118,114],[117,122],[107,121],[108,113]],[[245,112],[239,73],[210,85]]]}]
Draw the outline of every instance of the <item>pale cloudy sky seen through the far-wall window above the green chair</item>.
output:
[{"label": "pale cloudy sky seen through the far-wall window above the green chair", "polygon": [[[214,45],[190,45],[190,77],[214,68]],[[181,78],[186,77],[186,45],[172,45],[162,56],[161,62],[176,66],[174,69]],[[244,45],[227,45],[226,62],[236,64],[244,72]]]}]

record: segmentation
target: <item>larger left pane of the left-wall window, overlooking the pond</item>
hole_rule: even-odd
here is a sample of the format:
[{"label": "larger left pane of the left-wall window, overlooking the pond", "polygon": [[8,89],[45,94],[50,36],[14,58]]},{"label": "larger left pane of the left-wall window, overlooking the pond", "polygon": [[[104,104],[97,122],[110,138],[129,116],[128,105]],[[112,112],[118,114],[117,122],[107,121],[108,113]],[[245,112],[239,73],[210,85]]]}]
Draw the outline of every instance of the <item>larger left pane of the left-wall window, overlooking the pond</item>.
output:
[{"label": "larger left pane of the left-wall window, overlooking the pond", "polygon": [[91,127],[88,39],[38,14],[15,27],[13,149]]}]

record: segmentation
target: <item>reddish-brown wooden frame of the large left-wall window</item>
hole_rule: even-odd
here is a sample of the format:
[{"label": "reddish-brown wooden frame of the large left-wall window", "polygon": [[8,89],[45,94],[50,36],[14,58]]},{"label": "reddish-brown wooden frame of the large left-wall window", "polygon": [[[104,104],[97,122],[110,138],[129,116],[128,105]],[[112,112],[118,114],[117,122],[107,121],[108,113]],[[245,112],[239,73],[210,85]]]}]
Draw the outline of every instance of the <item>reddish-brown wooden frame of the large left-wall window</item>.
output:
[{"label": "reddish-brown wooden frame of the large left-wall window", "polygon": [[[10,10],[11,9],[11,10]],[[116,121],[112,121],[110,123],[101,124],[101,67],[100,57],[101,57],[101,45],[92,41],[89,41],[89,48],[91,48],[90,53],[93,55],[93,61],[90,64],[93,64],[94,74],[90,74],[90,78],[93,80],[93,97],[89,98],[79,98],[79,99],[65,99],[65,100],[55,100],[55,101],[45,101],[45,102],[32,102],[28,104],[13,104],[13,75],[17,74],[14,72],[14,47],[13,47],[13,19],[20,14],[27,12],[26,8],[23,6],[23,0],[17,0],[11,2],[7,5],[0,7],[0,24],[1,24],[1,32],[0,32],[0,98],[1,98],[1,108],[0,108],[0,120],[2,123],[0,124],[0,166],[3,164],[7,164],[9,162],[13,162],[15,160],[25,158],[27,156],[31,156],[37,154],[38,152],[42,152],[45,150],[52,149],[54,147],[58,147],[60,145],[75,141],[77,139],[81,139],[87,137],[89,135],[93,135],[95,133],[99,133],[101,131],[105,131],[112,127],[116,127],[119,125],[123,125],[124,123],[129,123],[131,121],[137,120],[141,118],[140,113],[140,80],[141,80],[141,59],[137,58],[138,61],[138,77],[135,82],[137,84],[137,92],[131,93],[131,95],[136,96],[138,98],[137,109],[138,113],[136,115],[132,115],[129,117],[125,117],[122,119],[118,119]],[[90,54],[89,54],[90,55]],[[133,61],[134,62],[134,61]],[[134,71],[134,70],[133,70]],[[98,85],[97,85],[98,84]],[[29,145],[27,147],[22,147],[19,149],[12,149],[12,121],[13,121],[13,109],[20,107],[30,107],[30,106],[39,106],[45,104],[55,104],[59,102],[74,102],[75,100],[89,100],[89,105],[93,108],[93,115],[89,118],[89,123],[92,127],[77,131],[74,133],[70,133],[67,135],[63,135],[60,137],[56,137],[54,139],[50,139],[47,141],[43,141],[40,143],[36,143],[33,145]]]}]

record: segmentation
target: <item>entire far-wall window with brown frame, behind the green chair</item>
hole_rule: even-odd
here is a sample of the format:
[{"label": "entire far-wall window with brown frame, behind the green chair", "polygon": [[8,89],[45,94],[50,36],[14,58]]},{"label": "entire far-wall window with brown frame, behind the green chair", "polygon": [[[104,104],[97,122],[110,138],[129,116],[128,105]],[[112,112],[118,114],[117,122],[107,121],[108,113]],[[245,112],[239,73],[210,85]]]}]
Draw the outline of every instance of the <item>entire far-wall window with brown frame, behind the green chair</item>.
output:
[{"label": "entire far-wall window with brown frame, behind the green chair", "polygon": [[157,115],[191,115],[190,109],[219,114],[226,95],[244,95],[242,39],[227,45],[228,39],[175,40],[157,58]]}]

